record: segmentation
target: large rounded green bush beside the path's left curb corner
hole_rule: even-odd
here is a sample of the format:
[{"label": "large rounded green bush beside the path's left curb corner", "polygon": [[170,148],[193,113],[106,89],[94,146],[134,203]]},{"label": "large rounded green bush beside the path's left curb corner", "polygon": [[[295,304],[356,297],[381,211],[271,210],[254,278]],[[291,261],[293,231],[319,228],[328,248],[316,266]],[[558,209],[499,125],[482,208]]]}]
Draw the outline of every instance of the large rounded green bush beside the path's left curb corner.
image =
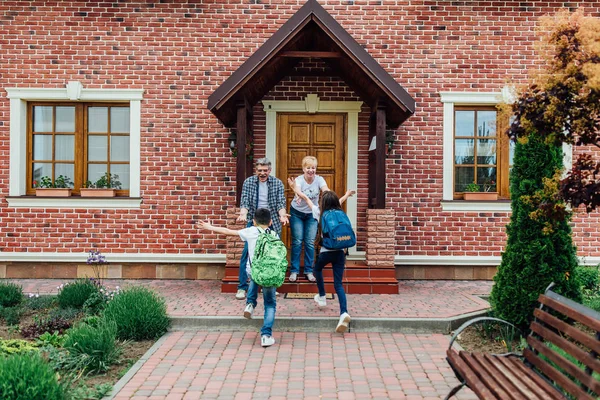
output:
[{"label": "large rounded green bush beside the path's left curb corner", "polygon": [[117,323],[117,336],[124,340],[156,339],[170,324],[164,299],[144,287],[121,291],[108,303],[104,315]]}]

